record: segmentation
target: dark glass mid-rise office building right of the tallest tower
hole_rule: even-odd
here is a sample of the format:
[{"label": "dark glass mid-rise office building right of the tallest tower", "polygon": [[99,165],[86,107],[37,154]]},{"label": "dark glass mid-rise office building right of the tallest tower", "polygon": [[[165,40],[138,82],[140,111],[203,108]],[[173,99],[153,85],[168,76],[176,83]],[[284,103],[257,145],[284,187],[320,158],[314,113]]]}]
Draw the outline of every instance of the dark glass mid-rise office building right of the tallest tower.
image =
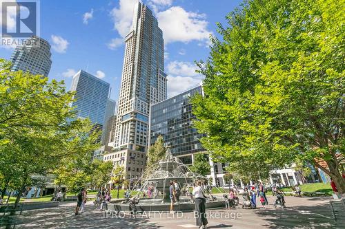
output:
[{"label": "dark glass mid-rise office building right of the tallest tower", "polygon": [[[201,86],[158,102],[150,109],[150,144],[154,144],[158,136],[162,135],[164,142],[170,145],[172,155],[186,164],[192,164],[193,153],[205,151],[199,142],[203,135],[197,133],[192,125],[195,116],[190,96],[195,94],[202,94]],[[182,155],[189,156],[181,157]]]}]

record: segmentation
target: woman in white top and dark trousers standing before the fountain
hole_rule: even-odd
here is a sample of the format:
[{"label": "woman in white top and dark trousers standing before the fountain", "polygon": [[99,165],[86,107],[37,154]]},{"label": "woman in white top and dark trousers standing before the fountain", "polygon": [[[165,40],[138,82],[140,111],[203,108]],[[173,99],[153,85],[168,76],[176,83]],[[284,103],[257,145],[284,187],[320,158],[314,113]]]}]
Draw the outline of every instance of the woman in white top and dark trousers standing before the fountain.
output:
[{"label": "woman in white top and dark trousers standing before the fountain", "polygon": [[193,196],[195,201],[195,212],[197,213],[197,226],[199,229],[206,228],[208,223],[206,219],[206,196],[204,190],[201,188],[201,181],[197,181],[195,188],[193,189]]}]

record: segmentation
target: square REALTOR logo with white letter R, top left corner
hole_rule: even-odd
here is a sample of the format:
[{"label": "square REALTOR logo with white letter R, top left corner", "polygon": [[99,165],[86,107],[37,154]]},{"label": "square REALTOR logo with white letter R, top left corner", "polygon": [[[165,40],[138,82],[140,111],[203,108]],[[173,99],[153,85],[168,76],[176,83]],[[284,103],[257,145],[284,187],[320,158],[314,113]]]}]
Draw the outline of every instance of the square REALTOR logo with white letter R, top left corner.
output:
[{"label": "square REALTOR logo with white letter R, top left corner", "polygon": [[38,36],[37,1],[2,1],[2,37]]}]

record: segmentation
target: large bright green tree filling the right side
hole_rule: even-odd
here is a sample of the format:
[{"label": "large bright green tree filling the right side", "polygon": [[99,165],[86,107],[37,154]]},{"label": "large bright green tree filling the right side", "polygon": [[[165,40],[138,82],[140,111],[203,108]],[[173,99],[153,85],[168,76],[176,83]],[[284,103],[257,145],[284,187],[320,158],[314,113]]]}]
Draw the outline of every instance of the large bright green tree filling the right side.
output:
[{"label": "large bright green tree filling the right side", "polygon": [[344,1],[253,0],[219,24],[199,63],[196,127],[232,171],[266,176],[297,158],[345,192]]}]

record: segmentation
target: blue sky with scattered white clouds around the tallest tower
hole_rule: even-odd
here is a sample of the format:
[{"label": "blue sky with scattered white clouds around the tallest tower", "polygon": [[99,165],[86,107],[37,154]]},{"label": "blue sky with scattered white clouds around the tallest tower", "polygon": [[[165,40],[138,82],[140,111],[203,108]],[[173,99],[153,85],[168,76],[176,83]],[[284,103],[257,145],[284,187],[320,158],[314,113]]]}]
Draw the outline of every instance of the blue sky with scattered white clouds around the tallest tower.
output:
[{"label": "blue sky with scattered white clouds around the tallest tower", "polygon": [[[6,0],[0,0],[6,1]],[[8,1],[8,0],[7,0]],[[11,1],[11,0],[10,0]],[[13,0],[12,0],[13,1]],[[110,83],[110,98],[119,98],[124,62],[124,36],[130,31],[137,0],[41,0],[40,36],[52,45],[49,78],[64,80],[86,70]],[[154,12],[164,36],[164,72],[168,97],[199,85],[195,61],[206,61],[209,36],[240,0],[141,0]],[[0,45],[0,58],[10,59],[14,47]]]}]

